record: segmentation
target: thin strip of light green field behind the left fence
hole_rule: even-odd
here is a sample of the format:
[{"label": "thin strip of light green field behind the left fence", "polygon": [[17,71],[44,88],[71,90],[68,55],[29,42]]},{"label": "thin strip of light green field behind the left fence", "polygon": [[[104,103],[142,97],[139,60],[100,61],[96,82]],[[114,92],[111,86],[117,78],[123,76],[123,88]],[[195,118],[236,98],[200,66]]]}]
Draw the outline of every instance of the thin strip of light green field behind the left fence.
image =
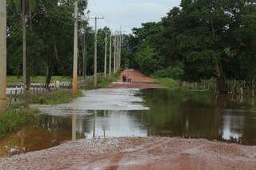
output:
[{"label": "thin strip of light green field behind the left fence", "polygon": [[[51,81],[71,81],[71,77],[62,77],[62,76],[54,76],[51,78]],[[22,77],[18,76],[8,76],[7,83],[14,84],[14,83],[21,83]],[[31,83],[45,83],[46,77],[45,76],[37,76],[31,77]]]}]

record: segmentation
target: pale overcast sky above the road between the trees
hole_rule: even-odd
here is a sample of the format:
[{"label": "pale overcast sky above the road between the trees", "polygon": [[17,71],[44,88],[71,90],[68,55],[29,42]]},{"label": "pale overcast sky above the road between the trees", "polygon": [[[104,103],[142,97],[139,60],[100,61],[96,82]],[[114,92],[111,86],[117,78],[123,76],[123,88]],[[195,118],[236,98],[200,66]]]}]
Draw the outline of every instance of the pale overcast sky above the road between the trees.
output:
[{"label": "pale overcast sky above the road between the trees", "polygon": [[[180,0],[89,0],[90,17],[104,17],[98,20],[98,27],[109,26],[111,30],[131,32],[142,22],[158,22],[174,6],[179,6]],[[90,21],[94,26],[94,21]]]}]

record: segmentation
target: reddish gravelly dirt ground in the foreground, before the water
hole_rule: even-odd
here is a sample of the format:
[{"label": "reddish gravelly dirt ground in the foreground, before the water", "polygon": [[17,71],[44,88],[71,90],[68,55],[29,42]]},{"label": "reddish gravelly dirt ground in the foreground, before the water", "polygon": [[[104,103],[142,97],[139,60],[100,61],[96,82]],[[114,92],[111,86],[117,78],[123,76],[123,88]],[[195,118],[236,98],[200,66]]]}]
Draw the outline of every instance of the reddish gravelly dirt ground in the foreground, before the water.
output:
[{"label": "reddish gravelly dirt ground in the foreground, before the water", "polygon": [[77,140],[0,159],[0,169],[256,169],[256,147],[165,137]]}]

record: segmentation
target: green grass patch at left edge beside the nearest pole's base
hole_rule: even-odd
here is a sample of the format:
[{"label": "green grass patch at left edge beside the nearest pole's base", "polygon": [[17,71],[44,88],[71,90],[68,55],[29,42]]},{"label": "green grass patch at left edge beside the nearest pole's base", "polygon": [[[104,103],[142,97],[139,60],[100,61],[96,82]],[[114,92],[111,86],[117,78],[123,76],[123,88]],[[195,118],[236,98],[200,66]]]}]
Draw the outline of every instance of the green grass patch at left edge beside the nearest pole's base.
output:
[{"label": "green grass patch at left edge beside the nearest pole's base", "polygon": [[12,132],[17,132],[22,126],[34,121],[37,113],[34,109],[8,109],[0,115],[0,138]]}]

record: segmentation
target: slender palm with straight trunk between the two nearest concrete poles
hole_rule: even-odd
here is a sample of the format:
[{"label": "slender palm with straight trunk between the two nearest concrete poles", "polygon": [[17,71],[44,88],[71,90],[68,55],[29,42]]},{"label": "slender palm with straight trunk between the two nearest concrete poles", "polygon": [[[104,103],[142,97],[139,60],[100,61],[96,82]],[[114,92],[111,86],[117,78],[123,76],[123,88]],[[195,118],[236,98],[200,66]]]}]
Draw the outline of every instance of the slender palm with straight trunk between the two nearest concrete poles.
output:
[{"label": "slender palm with straight trunk between the two nearest concrete poles", "polygon": [[24,89],[30,89],[30,81],[26,77],[26,19],[31,19],[31,11],[34,10],[37,0],[16,0],[16,8],[22,15],[22,62]]}]

